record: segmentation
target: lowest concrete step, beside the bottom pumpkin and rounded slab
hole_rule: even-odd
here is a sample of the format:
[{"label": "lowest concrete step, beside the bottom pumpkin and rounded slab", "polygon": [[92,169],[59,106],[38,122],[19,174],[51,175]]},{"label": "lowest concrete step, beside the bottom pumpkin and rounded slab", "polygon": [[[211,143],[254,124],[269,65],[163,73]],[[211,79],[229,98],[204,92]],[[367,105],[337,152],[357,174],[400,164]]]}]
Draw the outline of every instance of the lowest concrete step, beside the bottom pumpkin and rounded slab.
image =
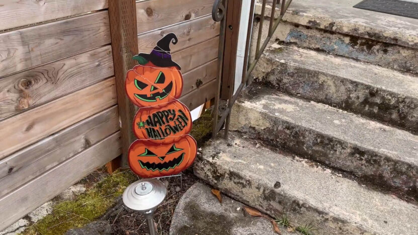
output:
[{"label": "lowest concrete step, beside the bottom pumpkin and rounded slab", "polygon": [[205,145],[194,171],[223,193],[273,217],[286,214],[296,226],[313,224],[314,234],[406,235],[418,230],[417,206],[233,131],[228,140]]}]

